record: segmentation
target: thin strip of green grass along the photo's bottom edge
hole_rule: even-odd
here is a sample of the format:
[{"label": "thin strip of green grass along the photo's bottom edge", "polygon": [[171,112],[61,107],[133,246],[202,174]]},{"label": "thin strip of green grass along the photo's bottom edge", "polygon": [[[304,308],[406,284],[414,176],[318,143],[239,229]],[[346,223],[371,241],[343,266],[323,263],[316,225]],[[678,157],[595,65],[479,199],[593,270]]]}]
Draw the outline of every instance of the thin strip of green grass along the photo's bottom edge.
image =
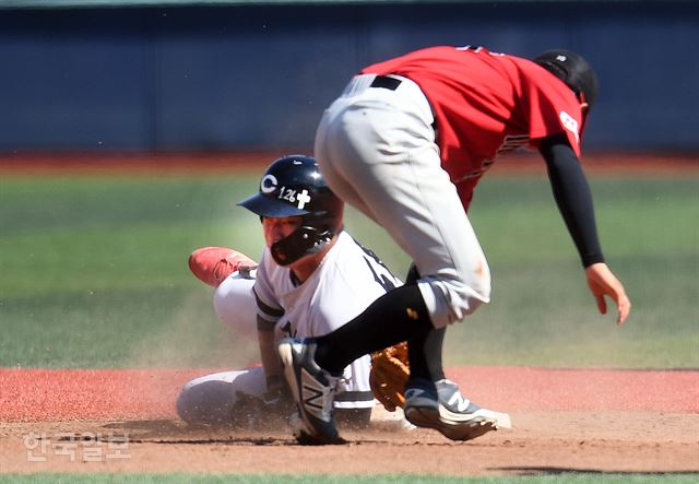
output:
[{"label": "thin strip of green grass along the photo's bottom edge", "polygon": [[555,472],[555,475],[455,477],[416,474],[240,475],[240,474],[0,474],[16,484],[689,484],[697,474],[602,474]]}]

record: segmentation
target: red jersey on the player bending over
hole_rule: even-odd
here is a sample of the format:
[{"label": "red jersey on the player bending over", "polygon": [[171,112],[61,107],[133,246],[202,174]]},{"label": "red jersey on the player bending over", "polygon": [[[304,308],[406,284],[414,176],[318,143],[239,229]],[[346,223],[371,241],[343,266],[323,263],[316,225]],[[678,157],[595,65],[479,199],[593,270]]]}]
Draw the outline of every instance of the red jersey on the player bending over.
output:
[{"label": "red jersey on the player bending over", "polygon": [[483,47],[431,47],[362,73],[403,75],[419,85],[435,111],[442,167],[466,208],[499,154],[565,133],[580,156],[580,102],[531,60]]}]

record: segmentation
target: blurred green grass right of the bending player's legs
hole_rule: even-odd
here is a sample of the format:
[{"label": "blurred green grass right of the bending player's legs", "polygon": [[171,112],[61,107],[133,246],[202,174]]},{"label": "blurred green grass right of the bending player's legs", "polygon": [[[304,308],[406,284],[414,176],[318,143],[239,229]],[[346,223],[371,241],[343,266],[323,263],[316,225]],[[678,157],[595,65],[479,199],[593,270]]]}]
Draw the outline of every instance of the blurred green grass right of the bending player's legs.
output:
[{"label": "blurred green grass right of the bending player's legs", "polygon": [[544,180],[482,184],[472,220],[491,303],[450,328],[454,364],[699,367],[699,180],[591,181],[605,256],[633,303],[600,316]]}]

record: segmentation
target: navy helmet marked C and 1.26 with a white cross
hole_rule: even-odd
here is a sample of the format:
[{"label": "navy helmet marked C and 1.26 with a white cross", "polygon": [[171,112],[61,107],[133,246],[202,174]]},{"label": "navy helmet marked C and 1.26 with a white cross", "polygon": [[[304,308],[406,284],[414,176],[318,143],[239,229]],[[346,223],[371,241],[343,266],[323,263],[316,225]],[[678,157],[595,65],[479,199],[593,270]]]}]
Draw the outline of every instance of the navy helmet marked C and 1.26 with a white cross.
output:
[{"label": "navy helmet marked C and 1.26 with a white cross", "polygon": [[270,247],[280,265],[320,251],[342,229],[344,203],[325,185],[318,163],[304,155],[284,156],[272,163],[258,193],[238,203],[264,217],[303,217],[293,234]]}]

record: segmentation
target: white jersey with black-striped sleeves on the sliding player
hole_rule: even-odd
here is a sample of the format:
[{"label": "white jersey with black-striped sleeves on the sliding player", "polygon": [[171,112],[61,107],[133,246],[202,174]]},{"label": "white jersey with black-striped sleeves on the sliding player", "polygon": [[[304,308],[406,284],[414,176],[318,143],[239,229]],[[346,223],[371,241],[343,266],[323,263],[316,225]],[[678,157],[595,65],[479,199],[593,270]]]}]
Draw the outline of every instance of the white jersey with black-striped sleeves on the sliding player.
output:
[{"label": "white jersey with black-striped sleeves on the sliding player", "polygon": [[[321,337],[354,319],[387,291],[401,285],[388,268],[346,232],[339,235],[321,264],[304,283],[274,262],[268,248],[257,271],[254,294],[260,329],[274,328],[275,339]],[[365,355],[344,370],[335,408],[369,408],[370,357]]]}]

